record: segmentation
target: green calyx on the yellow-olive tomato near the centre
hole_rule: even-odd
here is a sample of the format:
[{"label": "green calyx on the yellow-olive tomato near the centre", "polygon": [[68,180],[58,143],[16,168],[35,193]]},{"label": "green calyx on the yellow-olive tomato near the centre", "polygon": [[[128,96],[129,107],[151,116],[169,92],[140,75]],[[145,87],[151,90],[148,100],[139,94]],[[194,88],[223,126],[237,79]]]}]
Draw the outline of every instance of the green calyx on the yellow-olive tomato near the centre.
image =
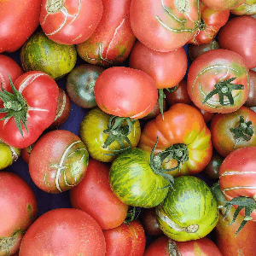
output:
[{"label": "green calyx on the yellow-olive tomato near the centre", "polygon": [[[127,125],[124,125],[125,122]],[[136,122],[136,120],[132,120],[130,118],[124,118],[119,116],[111,116],[108,121],[108,129],[104,130],[103,132],[108,134],[108,138],[104,142],[102,148],[108,148],[110,144],[117,141],[120,145],[120,149],[113,150],[113,154],[120,154],[131,148],[131,142],[128,138],[128,135],[132,131],[132,125]],[[128,147],[125,148],[124,142],[128,143]],[[108,155],[113,155],[108,154]]]}]

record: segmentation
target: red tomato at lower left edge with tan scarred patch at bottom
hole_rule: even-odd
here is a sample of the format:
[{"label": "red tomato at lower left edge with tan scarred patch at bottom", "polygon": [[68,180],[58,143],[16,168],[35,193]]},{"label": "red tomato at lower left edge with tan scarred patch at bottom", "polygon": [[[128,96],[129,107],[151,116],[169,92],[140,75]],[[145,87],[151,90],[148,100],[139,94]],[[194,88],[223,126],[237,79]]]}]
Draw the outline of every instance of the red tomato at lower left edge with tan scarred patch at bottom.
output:
[{"label": "red tomato at lower left edge with tan scarred patch at bottom", "polygon": [[32,188],[12,172],[0,172],[0,214],[0,255],[10,255],[38,215]]}]

